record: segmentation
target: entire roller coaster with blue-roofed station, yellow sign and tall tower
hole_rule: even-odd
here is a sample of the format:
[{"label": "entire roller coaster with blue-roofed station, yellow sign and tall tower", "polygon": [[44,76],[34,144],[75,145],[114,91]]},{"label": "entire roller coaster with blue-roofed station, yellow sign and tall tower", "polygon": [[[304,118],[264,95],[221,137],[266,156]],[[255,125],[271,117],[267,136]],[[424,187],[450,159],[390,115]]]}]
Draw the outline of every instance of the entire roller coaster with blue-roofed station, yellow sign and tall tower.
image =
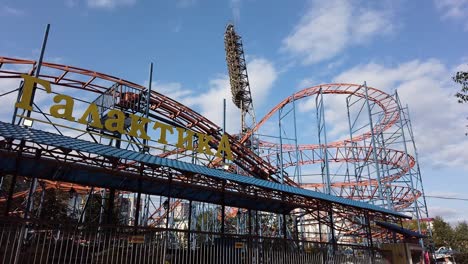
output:
[{"label": "entire roller coaster with blue-roofed station, yellow sign and tall tower", "polygon": [[[349,250],[378,262],[379,245],[422,237],[398,229],[405,219],[419,223],[427,208],[408,109],[396,93],[366,83],[321,84],[285,98],[257,122],[233,25],[225,49],[241,113],[238,135],[151,90],[152,65],[144,87],[43,62],[43,52],[39,61],[0,57],[0,82],[16,85],[0,95],[16,102],[12,119],[0,122],[0,262],[201,263],[216,255],[272,263],[279,245],[299,254],[291,263],[336,261]],[[323,98],[332,95],[346,102],[349,137],[329,142]],[[318,142],[297,137],[296,103],[304,99],[315,100]],[[259,132],[276,115],[279,136],[272,142]],[[284,143],[285,126],[294,131],[292,144]],[[335,163],[343,166],[334,170]],[[301,167],[314,164],[320,181],[301,175]],[[73,231],[44,225],[56,220],[44,213],[50,195],[62,197],[62,224]],[[88,232],[90,225],[98,229]],[[72,250],[68,258],[57,257],[63,241]],[[122,253],[129,247],[130,260]],[[232,248],[232,255],[210,253],[215,248]],[[177,254],[184,257],[174,260]],[[276,261],[286,263],[285,256]]]}]

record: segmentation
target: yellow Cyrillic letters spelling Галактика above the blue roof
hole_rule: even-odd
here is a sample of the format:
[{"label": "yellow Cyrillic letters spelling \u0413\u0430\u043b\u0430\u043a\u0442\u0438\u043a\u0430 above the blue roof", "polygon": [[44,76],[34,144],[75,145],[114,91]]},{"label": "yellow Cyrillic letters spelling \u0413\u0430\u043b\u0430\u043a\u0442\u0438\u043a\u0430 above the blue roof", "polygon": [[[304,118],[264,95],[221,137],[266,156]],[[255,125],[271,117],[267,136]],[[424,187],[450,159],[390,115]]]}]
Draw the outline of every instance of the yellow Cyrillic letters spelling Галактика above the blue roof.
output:
[{"label": "yellow Cyrillic letters spelling \u0413\u0430\u043b\u0430\u043a\u0442\u0438\u043a\u0430 above the blue roof", "polygon": [[[24,79],[23,92],[20,100],[15,104],[16,108],[27,111],[33,110],[31,101],[36,85],[42,86],[46,93],[52,96],[52,86],[49,81],[27,74],[22,74],[21,77]],[[105,116],[101,118],[99,107],[95,103],[90,103],[83,113],[77,114],[74,109],[75,99],[73,97],[57,93],[52,99],[54,104],[50,106],[49,113],[55,118],[144,140],[151,140],[150,135],[148,135],[148,130],[151,129],[156,132],[156,135],[159,133],[159,137],[157,137],[156,140],[158,143],[168,144],[167,136],[169,134],[177,135],[177,143],[175,144],[177,148],[194,150],[198,153],[218,158],[224,156],[228,160],[234,159],[227,134],[221,137],[217,147],[213,147],[210,143],[212,143],[214,139],[210,135],[161,123],[144,116],[125,113],[118,109],[110,109],[105,113]],[[195,138],[198,139],[196,144],[194,144]],[[216,150],[216,152],[213,150]]]}]

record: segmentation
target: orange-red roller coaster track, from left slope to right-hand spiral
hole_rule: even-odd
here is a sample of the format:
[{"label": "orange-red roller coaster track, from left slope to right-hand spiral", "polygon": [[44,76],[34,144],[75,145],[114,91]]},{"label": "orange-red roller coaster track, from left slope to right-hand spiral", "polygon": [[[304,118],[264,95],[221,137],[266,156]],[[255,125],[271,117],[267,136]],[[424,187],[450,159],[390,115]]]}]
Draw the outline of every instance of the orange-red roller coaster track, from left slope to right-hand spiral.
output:
[{"label": "orange-red roller coaster track, from left slope to right-hand spiral", "polygon": [[[36,62],[31,60],[22,60],[14,58],[0,58],[0,64],[2,65],[2,79],[12,78],[19,79],[20,75],[25,73],[24,71],[13,71],[6,70],[7,66],[15,66],[17,68],[24,69],[30,67],[29,73],[34,71]],[[63,87],[90,91],[98,94],[105,94],[108,92],[106,87],[103,87],[98,83],[97,80],[105,80],[110,82],[115,82],[125,89],[134,91],[143,91],[145,88],[121,80],[116,77],[112,77],[106,74],[97,73],[94,71],[89,71],[85,69],[80,69],[72,66],[59,65],[54,63],[44,62],[42,67],[45,69],[51,69],[56,72],[55,75],[44,74],[40,77],[49,80],[54,85],[60,85]],[[46,71],[46,70],[44,70]],[[28,73],[28,72],[26,72]],[[67,78],[67,75],[79,74],[80,78],[87,78],[86,81],[81,81],[77,79]],[[367,95],[366,91],[367,89]],[[123,93],[123,92],[121,92]],[[284,167],[296,166],[296,165],[306,165],[306,164],[315,164],[323,163],[324,155],[321,153],[322,149],[326,149],[328,156],[328,162],[370,162],[372,159],[372,153],[375,151],[378,157],[382,157],[377,160],[381,165],[388,165],[392,168],[395,168],[396,172],[390,175],[385,175],[380,179],[380,183],[385,185],[385,188],[391,190],[391,200],[392,204],[396,208],[408,208],[414,204],[422,194],[421,190],[411,189],[409,186],[399,186],[395,185],[394,182],[398,181],[404,177],[408,172],[414,168],[416,162],[414,157],[405,153],[401,150],[386,149],[381,147],[367,146],[358,146],[357,143],[362,142],[366,139],[372,137],[372,134],[377,135],[386,130],[389,130],[394,126],[400,118],[400,106],[397,100],[375,88],[364,87],[363,85],[355,84],[323,84],[314,87],[310,87],[299,91],[292,96],[284,99],[277,106],[275,106],[268,114],[263,117],[260,122],[252,129],[249,130],[239,141],[236,141],[233,136],[232,139],[232,150],[235,155],[234,163],[238,168],[243,170],[243,173],[247,175],[253,175],[262,179],[268,179],[271,181],[279,182],[278,171],[279,168],[273,166],[274,163],[272,159],[278,156],[278,153],[275,151],[270,151],[267,155],[260,157],[256,155],[250,148],[245,147],[244,143],[256,132],[258,131],[263,124],[265,124],[279,109],[285,107],[288,104],[291,104],[295,100],[300,100],[307,97],[313,97],[317,95],[333,95],[333,94],[346,94],[351,96],[356,96],[359,98],[368,98],[368,100],[374,102],[383,112],[383,118],[379,123],[374,125],[372,131],[367,131],[360,135],[354,135],[350,139],[345,139],[343,141],[329,142],[326,145],[324,144],[283,144],[282,151],[283,155],[290,156],[295,152],[299,152],[300,160],[285,162]],[[120,95],[113,95],[114,98],[120,98]],[[119,102],[120,105],[126,104],[130,108],[134,106],[133,101],[128,100],[124,102]],[[118,105],[118,104],[116,104]],[[217,141],[220,139],[220,131],[222,129],[215,125],[210,120],[206,119],[197,112],[191,110],[190,108],[180,104],[179,102],[164,96],[158,92],[153,91],[151,94],[150,109],[154,110],[158,114],[158,118],[161,117],[170,120],[171,123],[175,123],[179,126],[190,128],[193,131],[207,133],[214,137],[214,140]],[[276,143],[271,143],[267,141],[259,141],[259,147],[264,149],[278,150],[279,146]],[[312,154],[306,154],[310,152]],[[162,156],[171,156],[171,155],[181,155],[181,151],[178,149],[173,149],[166,151],[164,153],[159,153]],[[185,155],[182,154],[184,157]],[[208,161],[206,161],[208,162]],[[215,161],[209,161],[207,164],[214,164]],[[120,166],[129,166],[128,164],[121,164]],[[286,178],[286,184],[298,186],[299,183],[292,181],[290,178]],[[52,181],[45,181],[45,188],[65,188],[69,189],[69,185],[66,183],[56,183]],[[62,185],[64,184],[64,185]],[[323,189],[325,183],[302,183],[304,188],[313,188],[315,190]],[[330,186],[333,189],[337,189],[336,192],[342,193],[342,196],[349,199],[355,200],[373,200],[379,193],[378,190],[379,181],[377,179],[367,179],[367,180],[356,180],[356,181],[345,181],[345,182],[332,182]],[[76,187],[75,187],[76,188]],[[79,190],[85,191],[86,189],[77,188]],[[365,196],[365,193],[368,195]],[[27,191],[22,191],[14,195],[15,199],[25,197]],[[5,198],[4,198],[5,199]]]}]

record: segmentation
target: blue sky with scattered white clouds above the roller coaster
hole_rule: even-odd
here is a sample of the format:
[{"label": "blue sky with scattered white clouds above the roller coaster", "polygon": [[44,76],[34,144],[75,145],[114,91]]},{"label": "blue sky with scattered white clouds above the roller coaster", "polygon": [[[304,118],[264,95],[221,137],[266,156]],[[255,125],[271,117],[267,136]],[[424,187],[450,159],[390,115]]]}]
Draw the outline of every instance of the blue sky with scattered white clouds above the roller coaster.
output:
[{"label": "blue sky with scattered white clouds above the roller coaster", "polygon": [[[315,84],[398,89],[412,115],[426,194],[468,198],[468,109],[456,103],[450,79],[468,67],[467,14],[467,0],[2,0],[0,56],[36,59],[50,23],[46,61],[141,84],[155,62],[157,90],[221,124],[222,98],[229,99],[223,33],[235,22],[258,118]],[[346,117],[333,115],[337,108],[327,108],[327,120],[339,138]],[[230,105],[228,128],[237,124]],[[301,143],[316,142],[303,136]],[[467,205],[428,198],[430,214],[452,222],[468,219]]]}]

